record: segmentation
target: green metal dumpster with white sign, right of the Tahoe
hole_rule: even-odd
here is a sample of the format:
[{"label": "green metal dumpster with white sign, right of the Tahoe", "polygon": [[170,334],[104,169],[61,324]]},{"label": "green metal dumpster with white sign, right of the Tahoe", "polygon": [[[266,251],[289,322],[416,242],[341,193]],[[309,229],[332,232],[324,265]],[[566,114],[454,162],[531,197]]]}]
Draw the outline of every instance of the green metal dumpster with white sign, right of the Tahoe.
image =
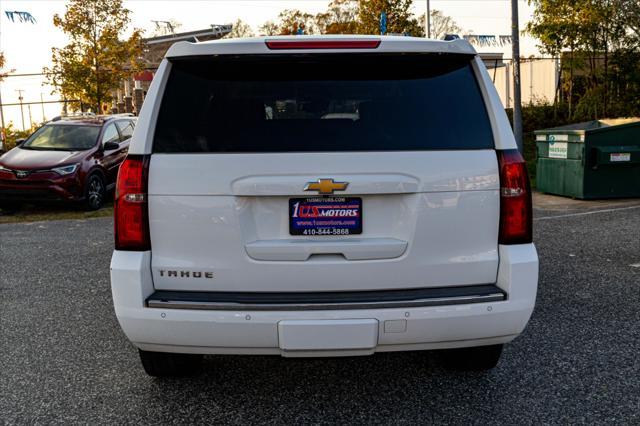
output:
[{"label": "green metal dumpster with white sign, right of the Tahoe", "polygon": [[640,118],[534,133],[539,191],[581,199],[640,197]]}]

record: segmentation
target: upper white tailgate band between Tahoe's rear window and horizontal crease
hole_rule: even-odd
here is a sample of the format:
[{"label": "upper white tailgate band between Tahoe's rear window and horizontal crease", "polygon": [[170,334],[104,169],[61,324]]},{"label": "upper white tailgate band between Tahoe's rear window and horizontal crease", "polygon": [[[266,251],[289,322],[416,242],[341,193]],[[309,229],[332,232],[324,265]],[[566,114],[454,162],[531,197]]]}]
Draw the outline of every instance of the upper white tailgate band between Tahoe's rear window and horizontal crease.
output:
[{"label": "upper white tailgate band between Tahoe's rear window and horizontal crease", "polygon": [[494,190],[494,150],[154,154],[149,195],[300,196],[319,178],[349,182],[342,195]]}]

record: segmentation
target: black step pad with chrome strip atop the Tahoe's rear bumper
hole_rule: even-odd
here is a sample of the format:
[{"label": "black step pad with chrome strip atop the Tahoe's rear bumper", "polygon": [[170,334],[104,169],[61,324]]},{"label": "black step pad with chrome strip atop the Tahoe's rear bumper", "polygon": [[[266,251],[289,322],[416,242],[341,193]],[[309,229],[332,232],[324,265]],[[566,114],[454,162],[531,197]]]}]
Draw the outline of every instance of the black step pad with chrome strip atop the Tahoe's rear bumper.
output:
[{"label": "black step pad with chrome strip atop the Tahoe's rear bumper", "polygon": [[347,292],[187,292],[158,290],[146,300],[149,308],[243,311],[300,311],[446,306],[506,300],[493,284],[407,290]]}]

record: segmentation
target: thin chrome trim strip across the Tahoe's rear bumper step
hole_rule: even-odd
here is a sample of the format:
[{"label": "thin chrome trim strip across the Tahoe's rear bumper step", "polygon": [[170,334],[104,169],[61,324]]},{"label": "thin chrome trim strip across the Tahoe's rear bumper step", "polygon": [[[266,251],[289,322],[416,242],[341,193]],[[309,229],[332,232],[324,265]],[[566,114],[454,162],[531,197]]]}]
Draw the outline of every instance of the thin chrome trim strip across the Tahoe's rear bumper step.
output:
[{"label": "thin chrome trim strip across the Tahoe's rear bumper step", "polygon": [[147,301],[149,308],[162,309],[195,309],[209,311],[310,311],[310,310],[346,310],[346,309],[388,309],[416,308],[424,306],[462,305],[467,303],[500,302],[506,299],[503,293],[492,293],[478,296],[439,297],[431,299],[398,300],[385,302],[350,302],[350,303],[305,303],[305,304],[245,304],[227,302],[196,302],[184,300]]}]

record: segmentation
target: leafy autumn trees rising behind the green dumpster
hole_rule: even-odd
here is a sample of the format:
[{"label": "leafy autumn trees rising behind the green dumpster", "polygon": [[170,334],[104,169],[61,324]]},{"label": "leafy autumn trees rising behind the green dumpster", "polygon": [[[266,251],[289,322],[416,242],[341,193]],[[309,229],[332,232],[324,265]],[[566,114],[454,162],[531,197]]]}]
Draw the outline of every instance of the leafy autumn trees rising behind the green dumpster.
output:
[{"label": "leafy autumn trees rising behind the green dumpster", "polygon": [[[631,115],[640,107],[637,0],[529,0],[527,31],[543,52],[562,55],[569,118]],[[576,102],[577,99],[577,102]],[[575,110],[574,110],[575,104]]]}]

